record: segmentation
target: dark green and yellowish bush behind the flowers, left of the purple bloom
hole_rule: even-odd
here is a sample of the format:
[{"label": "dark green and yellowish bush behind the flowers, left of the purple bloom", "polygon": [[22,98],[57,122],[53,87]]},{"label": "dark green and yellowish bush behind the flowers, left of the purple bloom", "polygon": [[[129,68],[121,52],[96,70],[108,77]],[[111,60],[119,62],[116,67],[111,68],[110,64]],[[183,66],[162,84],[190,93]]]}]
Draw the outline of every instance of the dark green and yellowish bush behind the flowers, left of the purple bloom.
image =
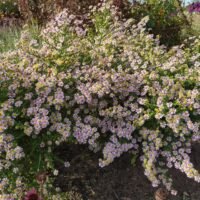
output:
[{"label": "dark green and yellowish bush behind the flowers, left of the purple bloom", "polygon": [[148,15],[150,32],[159,35],[160,42],[168,47],[180,44],[182,29],[189,27],[179,0],[144,0],[133,6],[132,13],[138,20]]}]

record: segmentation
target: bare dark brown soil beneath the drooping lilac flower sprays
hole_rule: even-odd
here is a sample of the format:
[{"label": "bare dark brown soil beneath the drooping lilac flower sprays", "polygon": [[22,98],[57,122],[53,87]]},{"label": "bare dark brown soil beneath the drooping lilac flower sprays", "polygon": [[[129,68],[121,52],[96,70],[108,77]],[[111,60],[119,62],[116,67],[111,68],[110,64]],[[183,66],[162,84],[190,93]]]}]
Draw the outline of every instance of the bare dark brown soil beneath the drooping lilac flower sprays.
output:
[{"label": "bare dark brown soil beneath the drooping lilac flower sprays", "polygon": [[[153,200],[155,188],[145,177],[140,162],[136,167],[130,164],[130,155],[123,155],[111,165],[100,168],[98,158],[84,146],[63,146],[58,151],[63,160],[71,163],[69,168],[59,167],[60,175],[56,180],[63,191],[76,191],[84,200]],[[192,160],[200,170],[200,145],[195,145]],[[177,196],[168,200],[200,200],[200,184],[188,179],[173,169],[174,186]]]}]

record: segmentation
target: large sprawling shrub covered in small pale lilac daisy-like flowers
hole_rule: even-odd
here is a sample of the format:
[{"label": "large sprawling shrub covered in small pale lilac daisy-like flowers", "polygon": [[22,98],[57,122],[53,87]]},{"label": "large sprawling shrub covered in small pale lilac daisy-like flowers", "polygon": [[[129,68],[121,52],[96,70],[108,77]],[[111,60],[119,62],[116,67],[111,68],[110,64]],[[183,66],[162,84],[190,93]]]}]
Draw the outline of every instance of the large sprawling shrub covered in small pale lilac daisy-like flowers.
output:
[{"label": "large sprawling shrub covered in small pale lilac daisy-like flowers", "polygon": [[171,167],[199,182],[189,157],[200,139],[199,38],[167,51],[145,32],[148,18],[120,20],[110,2],[89,18],[64,10],[39,40],[24,32],[18,50],[1,55],[1,192],[48,195],[61,143],[102,151],[101,167],[138,154],[152,185],[173,194]]}]

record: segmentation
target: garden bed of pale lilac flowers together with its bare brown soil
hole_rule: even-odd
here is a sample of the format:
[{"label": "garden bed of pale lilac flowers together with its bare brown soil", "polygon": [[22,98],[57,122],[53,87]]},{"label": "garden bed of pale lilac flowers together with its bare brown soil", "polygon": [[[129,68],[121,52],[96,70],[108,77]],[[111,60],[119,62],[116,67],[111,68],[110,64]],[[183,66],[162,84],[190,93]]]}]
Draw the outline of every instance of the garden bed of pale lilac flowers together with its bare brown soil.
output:
[{"label": "garden bed of pale lilac flowers together with its bare brown soil", "polygon": [[199,199],[200,37],[113,3],[2,31],[1,200]]}]

